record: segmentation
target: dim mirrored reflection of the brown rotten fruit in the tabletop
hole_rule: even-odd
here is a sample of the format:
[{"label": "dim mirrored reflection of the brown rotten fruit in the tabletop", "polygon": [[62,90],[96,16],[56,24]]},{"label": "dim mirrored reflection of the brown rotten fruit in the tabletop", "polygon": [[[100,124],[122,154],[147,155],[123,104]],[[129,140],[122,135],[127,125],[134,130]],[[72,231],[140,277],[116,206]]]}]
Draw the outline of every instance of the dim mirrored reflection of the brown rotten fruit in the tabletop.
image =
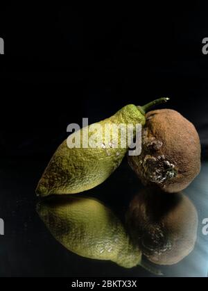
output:
[{"label": "dim mirrored reflection of the brown rotten fruit in the tabletop", "polygon": [[173,265],[193,250],[198,215],[182,193],[143,190],[130,202],[126,217],[132,241],[152,263]]}]

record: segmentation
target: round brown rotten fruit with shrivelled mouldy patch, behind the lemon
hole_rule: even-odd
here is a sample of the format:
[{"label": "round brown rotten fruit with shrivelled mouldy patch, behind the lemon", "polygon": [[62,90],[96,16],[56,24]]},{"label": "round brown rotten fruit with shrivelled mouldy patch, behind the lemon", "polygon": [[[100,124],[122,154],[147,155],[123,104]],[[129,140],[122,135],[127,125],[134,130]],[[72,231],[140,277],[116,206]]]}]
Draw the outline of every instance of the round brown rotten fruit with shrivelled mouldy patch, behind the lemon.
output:
[{"label": "round brown rotten fruit with shrivelled mouldy patch, behind the lemon", "polygon": [[200,172],[200,140],[196,128],[171,109],[146,114],[140,156],[129,156],[144,185],[180,192]]}]

